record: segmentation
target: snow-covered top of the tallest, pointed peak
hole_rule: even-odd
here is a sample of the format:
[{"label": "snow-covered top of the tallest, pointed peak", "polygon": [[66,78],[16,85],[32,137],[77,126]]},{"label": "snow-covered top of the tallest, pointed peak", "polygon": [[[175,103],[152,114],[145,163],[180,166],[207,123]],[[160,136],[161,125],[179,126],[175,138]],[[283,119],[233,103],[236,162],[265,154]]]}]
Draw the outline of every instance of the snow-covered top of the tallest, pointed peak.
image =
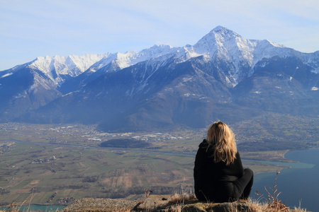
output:
[{"label": "snow-covered top of the tallest, pointed peak", "polygon": [[270,40],[249,40],[228,28],[217,26],[194,45],[194,52],[211,59],[226,58],[237,69],[240,64],[253,67],[262,58],[287,57],[296,51]]}]

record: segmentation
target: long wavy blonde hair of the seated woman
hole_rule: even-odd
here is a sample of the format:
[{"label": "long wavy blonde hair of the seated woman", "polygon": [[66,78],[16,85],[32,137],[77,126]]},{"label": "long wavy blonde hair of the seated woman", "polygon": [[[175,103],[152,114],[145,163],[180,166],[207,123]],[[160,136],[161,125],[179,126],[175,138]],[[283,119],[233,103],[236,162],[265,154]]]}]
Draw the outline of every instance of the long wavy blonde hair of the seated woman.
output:
[{"label": "long wavy blonde hair of the seated woman", "polygon": [[[237,147],[233,131],[223,122],[214,122],[208,127],[206,141],[208,148],[214,147],[214,162],[223,161],[226,165],[233,163],[236,158]],[[207,148],[207,151],[208,151]]]}]

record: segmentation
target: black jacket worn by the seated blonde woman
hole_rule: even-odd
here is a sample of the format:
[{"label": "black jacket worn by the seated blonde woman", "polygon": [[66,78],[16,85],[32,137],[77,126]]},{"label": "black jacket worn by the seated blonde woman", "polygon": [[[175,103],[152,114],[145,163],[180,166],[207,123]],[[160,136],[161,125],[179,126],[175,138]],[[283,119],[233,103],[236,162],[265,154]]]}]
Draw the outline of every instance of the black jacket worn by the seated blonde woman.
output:
[{"label": "black jacket worn by the seated blonde woman", "polygon": [[224,162],[215,163],[213,160],[213,146],[208,148],[204,139],[199,145],[195,166],[194,183],[196,197],[201,201],[223,202],[233,196],[233,183],[244,175],[240,154],[236,153],[234,163],[226,165]]}]

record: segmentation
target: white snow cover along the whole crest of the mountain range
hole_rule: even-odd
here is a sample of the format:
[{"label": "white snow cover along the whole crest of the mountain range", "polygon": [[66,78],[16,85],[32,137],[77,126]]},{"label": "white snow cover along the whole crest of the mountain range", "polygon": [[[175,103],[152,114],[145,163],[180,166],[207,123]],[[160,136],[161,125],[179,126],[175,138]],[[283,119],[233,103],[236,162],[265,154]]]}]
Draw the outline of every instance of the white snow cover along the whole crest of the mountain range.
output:
[{"label": "white snow cover along the whole crest of the mountain range", "polygon": [[[299,53],[303,60],[308,59],[306,61],[307,64],[317,64],[319,53],[315,54],[313,59],[309,59],[310,57],[304,56],[301,52]],[[88,73],[91,73],[108,65],[110,68],[103,71],[116,71],[147,60],[150,61],[150,64],[154,62],[155,66],[158,66],[158,64],[162,64],[161,61],[169,57],[174,58],[177,62],[182,62],[194,57],[203,56],[206,60],[216,58],[226,59],[230,64],[233,64],[233,76],[230,76],[230,78],[234,78],[233,83],[237,83],[240,75],[246,76],[247,74],[252,74],[252,71],[242,74],[242,67],[246,67],[246,71],[247,67],[253,70],[254,65],[260,59],[274,56],[287,57],[291,54],[296,54],[296,51],[269,40],[248,40],[228,28],[217,26],[193,46],[172,47],[169,45],[154,45],[148,49],[142,49],[140,52],[128,51],[115,54],[38,57],[28,64],[23,64],[23,66],[43,71],[52,81],[60,83],[63,81],[63,76],[60,77],[60,75],[74,77],[86,70],[89,70]],[[317,68],[319,65],[315,67],[316,69],[313,72],[318,73]]]}]

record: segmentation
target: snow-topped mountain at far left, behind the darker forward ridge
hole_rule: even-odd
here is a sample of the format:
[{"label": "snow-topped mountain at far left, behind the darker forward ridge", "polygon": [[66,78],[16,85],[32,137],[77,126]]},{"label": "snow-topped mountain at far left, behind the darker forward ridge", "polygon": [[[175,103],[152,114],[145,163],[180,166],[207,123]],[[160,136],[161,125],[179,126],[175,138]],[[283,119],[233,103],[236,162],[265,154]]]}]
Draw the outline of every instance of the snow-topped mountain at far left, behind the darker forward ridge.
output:
[{"label": "snow-topped mountain at far left, behind the darker forward ridge", "polygon": [[57,88],[67,78],[89,69],[103,54],[38,57],[26,64],[0,71],[0,112],[8,120],[55,100],[62,93]]}]

